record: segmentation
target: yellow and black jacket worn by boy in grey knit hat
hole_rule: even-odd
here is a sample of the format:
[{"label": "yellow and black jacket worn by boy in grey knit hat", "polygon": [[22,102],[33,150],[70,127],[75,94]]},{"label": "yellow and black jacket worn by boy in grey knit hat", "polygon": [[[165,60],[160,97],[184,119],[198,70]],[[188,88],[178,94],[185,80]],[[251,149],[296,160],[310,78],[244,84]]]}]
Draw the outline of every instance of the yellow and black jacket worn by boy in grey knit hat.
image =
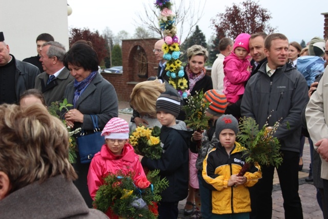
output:
[{"label": "yellow and black jacket worn by boy in grey knit hat", "polygon": [[228,187],[228,180],[238,174],[245,163],[240,144],[228,154],[220,143],[211,150],[203,162],[202,176],[212,189],[212,213],[231,214],[251,211],[250,193],[247,187],[254,186],[262,173],[258,165],[253,165],[245,173],[247,182],[237,187]]}]

